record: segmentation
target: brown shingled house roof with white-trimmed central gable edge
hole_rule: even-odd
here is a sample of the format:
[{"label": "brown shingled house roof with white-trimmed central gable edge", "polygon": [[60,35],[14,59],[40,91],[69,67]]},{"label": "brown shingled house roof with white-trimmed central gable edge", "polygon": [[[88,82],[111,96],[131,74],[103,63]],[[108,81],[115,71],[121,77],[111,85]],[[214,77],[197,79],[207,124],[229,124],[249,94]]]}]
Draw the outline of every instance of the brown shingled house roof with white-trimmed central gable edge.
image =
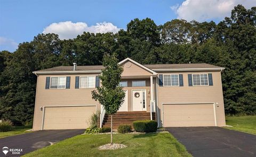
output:
[{"label": "brown shingled house roof with white-trimmed central gable edge", "polygon": [[[200,71],[200,70],[223,70],[225,68],[218,67],[216,65],[206,64],[206,63],[194,63],[194,64],[145,64],[142,65],[134,60],[127,58],[119,64],[123,64],[126,61],[130,61],[142,69],[151,72],[156,75],[157,71]],[[46,73],[100,73],[104,67],[102,65],[86,65],[77,66],[76,70],[73,71],[73,66],[60,66],[44,70],[34,71],[35,74],[46,74]]]}]

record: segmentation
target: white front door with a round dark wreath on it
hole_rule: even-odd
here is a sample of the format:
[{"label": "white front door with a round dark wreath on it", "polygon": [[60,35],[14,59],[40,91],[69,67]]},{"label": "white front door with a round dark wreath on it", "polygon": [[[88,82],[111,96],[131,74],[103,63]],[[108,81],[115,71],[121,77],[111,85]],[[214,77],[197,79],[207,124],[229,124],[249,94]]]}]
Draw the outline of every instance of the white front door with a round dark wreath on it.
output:
[{"label": "white front door with a round dark wreath on it", "polygon": [[146,90],[132,90],[132,111],[147,111]]}]

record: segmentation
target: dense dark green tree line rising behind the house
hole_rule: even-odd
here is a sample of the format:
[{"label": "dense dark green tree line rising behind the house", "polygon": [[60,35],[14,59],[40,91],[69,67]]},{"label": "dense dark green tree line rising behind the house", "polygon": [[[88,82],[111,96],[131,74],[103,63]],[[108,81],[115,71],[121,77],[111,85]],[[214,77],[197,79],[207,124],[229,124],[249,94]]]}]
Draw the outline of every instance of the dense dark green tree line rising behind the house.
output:
[{"label": "dense dark green tree line rising behind the house", "polygon": [[15,124],[33,119],[36,70],[60,65],[100,65],[104,53],[142,64],[209,63],[225,67],[222,88],[226,114],[256,114],[256,7],[237,5],[218,24],[172,20],[157,26],[134,19],[116,34],[84,32],[60,40],[38,34],[10,53],[0,52],[0,118]]}]

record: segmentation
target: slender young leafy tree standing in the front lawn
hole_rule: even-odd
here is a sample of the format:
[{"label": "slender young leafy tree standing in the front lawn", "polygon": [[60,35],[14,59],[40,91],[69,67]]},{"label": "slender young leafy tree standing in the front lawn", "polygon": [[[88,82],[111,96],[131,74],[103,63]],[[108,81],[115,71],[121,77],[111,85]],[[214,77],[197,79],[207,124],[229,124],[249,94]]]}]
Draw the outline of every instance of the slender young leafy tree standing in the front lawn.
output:
[{"label": "slender young leafy tree standing in the front lawn", "polygon": [[101,75],[101,86],[92,91],[92,98],[103,105],[106,114],[111,115],[111,145],[113,144],[113,122],[112,115],[115,114],[124,102],[125,92],[119,82],[123,67],[118,64],[116,55],[105,54],[103,56],[103,67]]}]

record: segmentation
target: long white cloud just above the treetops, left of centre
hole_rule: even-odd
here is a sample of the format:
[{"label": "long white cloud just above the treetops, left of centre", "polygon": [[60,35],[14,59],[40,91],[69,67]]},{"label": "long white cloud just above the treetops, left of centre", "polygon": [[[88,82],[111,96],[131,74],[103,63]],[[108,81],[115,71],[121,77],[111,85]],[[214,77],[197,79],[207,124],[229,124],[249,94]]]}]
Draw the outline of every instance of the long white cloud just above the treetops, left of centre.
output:
[{"label": "long white cloud just above the treetops, left of centre", "polygon": [[71,21],[52,23],[46,28],[44,28],[43,33],[55,33],[59,35],[60,39],[72,39],[76,38],[77,35],[83,34],[83,32],[93,32],[93,33],[106,33],[119,31],[120,28],[114,26],[110,22],[100,22],[96,23],[94,26],[88,26],[85,22],[76,22]]}]

